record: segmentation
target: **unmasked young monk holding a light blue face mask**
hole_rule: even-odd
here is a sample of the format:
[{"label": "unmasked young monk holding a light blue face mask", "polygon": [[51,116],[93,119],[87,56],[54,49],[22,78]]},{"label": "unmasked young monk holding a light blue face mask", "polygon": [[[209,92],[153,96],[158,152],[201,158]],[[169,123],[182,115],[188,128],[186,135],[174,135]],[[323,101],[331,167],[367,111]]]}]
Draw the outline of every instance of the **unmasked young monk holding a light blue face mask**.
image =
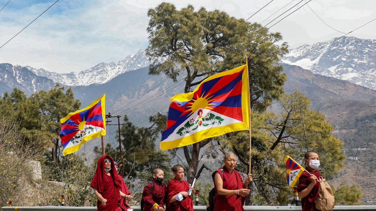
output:
[{"label": "unmasked young monk holding a light blue face mask", "polygon": [[[188,190],[192,187],[184,179],[184,169],[180,165],[172,167],[175,178],[167,185],[168,211],[193,211],[193,201]],[[193,190],[192,190],[193,191]]]}]

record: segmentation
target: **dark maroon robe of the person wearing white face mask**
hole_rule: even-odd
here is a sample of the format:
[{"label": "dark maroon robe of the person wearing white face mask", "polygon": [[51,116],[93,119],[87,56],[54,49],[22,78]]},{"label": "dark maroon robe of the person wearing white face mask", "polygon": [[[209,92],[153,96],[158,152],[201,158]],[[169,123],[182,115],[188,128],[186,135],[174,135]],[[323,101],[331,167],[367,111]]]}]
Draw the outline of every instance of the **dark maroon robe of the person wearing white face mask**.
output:
[{"label": "dark maroon robe of the person wearing white face mask", "polygon": [[[317,176],[319,178],[321,176],[320,172],[317,170],[312,172],[309,169],[306,169],[309,173]],[[311,179],[309,178],[310,175],[307,172],[303,172],[302,175],[300,175],[299,178],[299,184],[296,188],[298,192],[304,190],[306,187],[308,187],[309,184],[311,184]],[[315,206],[315,200],[318,196],[318,189],[320,188],[320,183],[316,182],[315,186],[312,188],[311,192],[309,194],[302,198],[302,211],[318,211]]]}]

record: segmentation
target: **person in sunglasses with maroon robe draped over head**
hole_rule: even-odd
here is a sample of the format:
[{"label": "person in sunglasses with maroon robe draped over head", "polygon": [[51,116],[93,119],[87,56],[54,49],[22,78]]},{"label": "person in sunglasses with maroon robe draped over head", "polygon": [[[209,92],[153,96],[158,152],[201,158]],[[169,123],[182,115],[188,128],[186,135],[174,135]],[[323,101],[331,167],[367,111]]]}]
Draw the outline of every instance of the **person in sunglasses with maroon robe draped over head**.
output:
[{"label": "person in sunglasses with maroon robe draped over head", "polygon": [[[121,202],[121,177],[115,169],[114,160],[109,155],[103,155],[97,162],[97,170],[91,181],[90,187],[94,189],[97,197],[99,211],[124,211]],[[124,181],[123,181],[124,182]],[[125,194],[123,193],[125,196]]]}]

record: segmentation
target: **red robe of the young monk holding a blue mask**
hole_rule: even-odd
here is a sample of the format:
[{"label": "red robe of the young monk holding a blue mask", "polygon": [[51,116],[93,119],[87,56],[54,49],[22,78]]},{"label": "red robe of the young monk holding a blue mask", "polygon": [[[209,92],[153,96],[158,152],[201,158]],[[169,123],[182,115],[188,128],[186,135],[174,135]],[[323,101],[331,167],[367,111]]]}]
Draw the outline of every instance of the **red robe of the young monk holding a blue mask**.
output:
[{"label": "red robe of the young monk holding a blue mask", "polygon": [[168,211],[193,211],[193,201],[191,196],[183,197],[181,202],[176,201],[173,203],[168,203],[168,201],[175,197],[179,192],[188,192],[189,184],[187,181],[182,180],[178,182],[175,178],[171,179],[167,185],[167,210]]}]

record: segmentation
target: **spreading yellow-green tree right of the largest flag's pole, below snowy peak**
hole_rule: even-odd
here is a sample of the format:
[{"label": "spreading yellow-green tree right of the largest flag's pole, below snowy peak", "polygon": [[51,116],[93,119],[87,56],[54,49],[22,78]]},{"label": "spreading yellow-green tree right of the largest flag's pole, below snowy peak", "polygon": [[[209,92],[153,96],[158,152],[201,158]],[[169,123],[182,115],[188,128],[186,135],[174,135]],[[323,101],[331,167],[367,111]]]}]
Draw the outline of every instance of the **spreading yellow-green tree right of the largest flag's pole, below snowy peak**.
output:
[{"label": "spreading yellow-green tree right of the largest flag's pole, below snowy peak", "polygon": [[[251,113],[254,205],[283,205],[293,195],[286,183],[286,155],[303,163],[306,151],[317,152],[320,172],[326,178],[331,178],[344,166],[345,157],[340,151],[343,143],[332,136],[333,128],[325,117],[309,109],[307,97],[295,91],[283,95],[280,104],[283,112],[278,115]],[[222,136],[220,142],[222,151],[235,152],[240,161],[238,168],[248,172],[249,134],[229,133]]]}]

